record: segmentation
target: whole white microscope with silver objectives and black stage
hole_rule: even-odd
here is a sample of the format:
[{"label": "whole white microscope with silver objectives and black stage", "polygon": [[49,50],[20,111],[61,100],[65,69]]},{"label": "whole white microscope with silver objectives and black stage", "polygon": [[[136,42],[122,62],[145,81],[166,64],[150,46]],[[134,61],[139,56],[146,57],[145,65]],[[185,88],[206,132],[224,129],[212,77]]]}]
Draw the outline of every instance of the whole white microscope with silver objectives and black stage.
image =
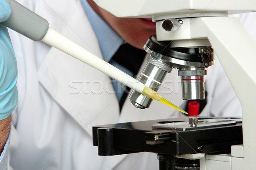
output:
[{"label": "whole white microscope with silver objectives and black stage", "polygon": [[[256,1],[95,2],[117,17],[152,18],[156,23],[157,34],[144,46],[148,57],[140,82],[157,91],[166,74],[178,69],[182,98],[204,99],[204,76],[214,65],[215,52],[242,105],[242,119],[183,117],[94,126],[99,155],[158,153],[160,170],[255,169],[256,40],[229,14],[256,11]],[[141,109],[152,101],[135,91],[130,100]]]}]

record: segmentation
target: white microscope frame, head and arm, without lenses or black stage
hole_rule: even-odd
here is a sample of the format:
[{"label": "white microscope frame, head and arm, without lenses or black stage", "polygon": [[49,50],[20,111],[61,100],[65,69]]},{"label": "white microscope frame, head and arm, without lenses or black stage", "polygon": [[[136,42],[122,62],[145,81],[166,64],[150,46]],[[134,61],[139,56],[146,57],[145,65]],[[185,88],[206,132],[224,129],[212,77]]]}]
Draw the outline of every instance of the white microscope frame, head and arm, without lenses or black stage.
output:
[{"label": "white microscope frame, head and arm, without lenses or black stage", "polygon": [[[256,105],[253,102],[256,96],[256,69],[254,65],[256,53],[253,52],[256,47],[256,39],[237,18],[228,16],[229,14],[256,11],[256,1],[123,0],[120,2],[111,0],[105,2],[95,0],[95,2],[117,17],[152,18],[157,26],[156,40],[158,42],[170,41],[169,48],[213,48],[242,105],[243,144],[233,145],[231,156],[228,158],[215,155],[215,158],[211,158],[212,167],[226,159],[230,160],[228,163],[230,166],[224,166],[225,168],[221,168],[223,170],[229,170],[231,167],[232,170],[255,168],[256,133],[252,133],[251,130],[253,130],[256,120],[254,113]],[[167,26],[164,26],[163,23],[166,20],[173,22],[167,21]],[[178,25],[176,30],[169,30],[168,22],[169,26],[170,23]],[[146,48],[148,49],[148,47]],[[162,62],[161,58],[154,58],[156,55],[150,50],[148,51],[153,59],[159,59]],[[198,68],[207,68],[208,66],[204,64]],[[171,69],[169,68],[165,72],[177,68],[170,64],[169,67]],[[195,66],[183,68],[195,68]],[[161,79],[164,77],[163,74]],[[206,157],[200,159],[202,160],[200,163],[204,164],[202,170],[207,170],[204,161]]]}]

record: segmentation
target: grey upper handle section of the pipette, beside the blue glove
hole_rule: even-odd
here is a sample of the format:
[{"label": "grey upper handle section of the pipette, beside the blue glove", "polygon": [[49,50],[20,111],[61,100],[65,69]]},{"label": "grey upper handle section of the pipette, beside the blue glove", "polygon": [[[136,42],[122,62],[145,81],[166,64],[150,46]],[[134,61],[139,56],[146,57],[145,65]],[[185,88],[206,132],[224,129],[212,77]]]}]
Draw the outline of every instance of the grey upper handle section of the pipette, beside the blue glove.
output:
[{"label": "grey upper handle section of the pipette, beside the blue glove", "polygon": [[47,20],[20,5],[20,3],[17,3],[15,0],[7,0],[7,2],[11,6],[11,16],[7,21],[1,24],[31,40],[42,40],[49,28]]}]

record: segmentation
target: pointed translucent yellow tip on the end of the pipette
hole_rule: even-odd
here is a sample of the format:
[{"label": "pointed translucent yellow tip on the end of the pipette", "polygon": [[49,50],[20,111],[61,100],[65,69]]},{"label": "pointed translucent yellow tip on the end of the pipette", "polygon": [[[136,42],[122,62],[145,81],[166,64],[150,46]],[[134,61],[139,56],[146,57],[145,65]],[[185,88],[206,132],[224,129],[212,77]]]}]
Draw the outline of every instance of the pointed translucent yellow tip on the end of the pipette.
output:
[{"label": "pointed translucent yellow tip on the end of the pipette", "polygon": [[160,102],[162,102],[163,104],[166,104],[172,108],[175,108],[178,111],[181,111],[182,113],[188,114],[185,111],[183,111],[181,108],[175,106],[174,104],[172,104],[171,102],[169,102],[168,100],[164,99],[162,96],[160,96],[157,92],[155,92],[154,90],[152,90],[151,88],[148,88],[147,86],[145,86],[145,88],[143,89],[143,91],[141,92],[141,94],[144,94],[145,96],[150,97],[151,99],[154,100],[158,100]]}]

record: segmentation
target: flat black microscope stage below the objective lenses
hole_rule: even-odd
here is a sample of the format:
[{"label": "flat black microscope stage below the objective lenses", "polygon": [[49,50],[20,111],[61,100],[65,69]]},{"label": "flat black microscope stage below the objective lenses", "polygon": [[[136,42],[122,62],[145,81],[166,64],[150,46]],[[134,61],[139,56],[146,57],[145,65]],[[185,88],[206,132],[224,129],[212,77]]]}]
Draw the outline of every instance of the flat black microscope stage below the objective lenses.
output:
[{"label": "flat black microscope stage below the objective lenses", "polygon": [[230,153],[242,144],[242,119],[198,117],[190,127],[188,117],[128,122],[93,127],[93,145],[99,155],[153,152],[171,155],[187,153]]}]

